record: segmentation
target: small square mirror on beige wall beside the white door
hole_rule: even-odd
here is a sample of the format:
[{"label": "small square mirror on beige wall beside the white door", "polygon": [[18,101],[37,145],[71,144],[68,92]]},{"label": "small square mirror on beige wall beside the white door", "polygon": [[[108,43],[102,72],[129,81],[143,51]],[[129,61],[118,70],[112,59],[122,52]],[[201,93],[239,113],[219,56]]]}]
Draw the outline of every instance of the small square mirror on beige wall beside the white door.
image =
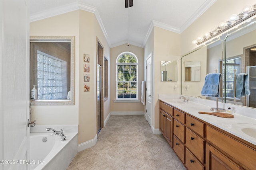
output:
[{"label": "small square mirror on beige wall beside the white door", "polygon": [[176,82],[178,80],[177,61],[161,61],[161,81]]}]

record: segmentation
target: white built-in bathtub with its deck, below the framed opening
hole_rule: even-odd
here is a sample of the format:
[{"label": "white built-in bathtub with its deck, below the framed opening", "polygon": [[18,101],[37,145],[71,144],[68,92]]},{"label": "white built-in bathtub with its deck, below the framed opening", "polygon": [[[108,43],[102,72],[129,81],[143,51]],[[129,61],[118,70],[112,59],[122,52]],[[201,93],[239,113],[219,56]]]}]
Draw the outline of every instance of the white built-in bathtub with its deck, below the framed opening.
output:
[{"label": "white built-in bathtub with its deck, below the framed opening", "polygon": [[[36,167],[31,164],[30,168],[34,170],[66,169],[77,153],[77,125],[36,125],[35,127],[30,127],[30,160],[34,160],[36,164],[38,161],[44,163]],[[46,128],[57,131],[63,129],[66,141],[61,141],[59,135],[50,136],[52,132],[46,131]],[[48,139],[45,143],[42,141],[43,137]],[[45,157],[40,156],[41,154]]]}]

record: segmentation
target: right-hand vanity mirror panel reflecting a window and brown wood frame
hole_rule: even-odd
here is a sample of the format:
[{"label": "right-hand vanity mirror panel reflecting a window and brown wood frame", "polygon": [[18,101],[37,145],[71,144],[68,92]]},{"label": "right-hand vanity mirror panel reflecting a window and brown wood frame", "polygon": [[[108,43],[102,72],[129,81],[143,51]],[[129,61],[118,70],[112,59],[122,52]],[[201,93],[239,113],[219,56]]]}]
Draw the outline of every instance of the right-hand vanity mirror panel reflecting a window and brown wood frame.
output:
[{"label": "right-hand vanity mirror panel reflecting a window and brown wood frame", "polygon": [[[244,83],[239,83],[239,76]],[[247,77],[247,81],[245,80]],[[236,78],[236,81],[234,79]],[[239,90],[248,83],[248,90]],[[256,108],[256,19],[226,38],[226,98],[225,102]],[[235,91],[235,93],[234,93]],[[234,95],[236,96],[234,100]]]}]

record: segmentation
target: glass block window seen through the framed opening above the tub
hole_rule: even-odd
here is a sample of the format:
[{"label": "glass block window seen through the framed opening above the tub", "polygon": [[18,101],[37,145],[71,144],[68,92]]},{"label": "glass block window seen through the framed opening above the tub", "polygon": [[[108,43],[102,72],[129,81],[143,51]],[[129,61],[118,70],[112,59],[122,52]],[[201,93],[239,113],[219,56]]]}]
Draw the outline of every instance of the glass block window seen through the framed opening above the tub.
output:
[{"label": "glass block window seen through the framed opening above the tub", "polygon": [[62,61],[40,51],[37,54],[37,93],[38,100],[62,99]]}]

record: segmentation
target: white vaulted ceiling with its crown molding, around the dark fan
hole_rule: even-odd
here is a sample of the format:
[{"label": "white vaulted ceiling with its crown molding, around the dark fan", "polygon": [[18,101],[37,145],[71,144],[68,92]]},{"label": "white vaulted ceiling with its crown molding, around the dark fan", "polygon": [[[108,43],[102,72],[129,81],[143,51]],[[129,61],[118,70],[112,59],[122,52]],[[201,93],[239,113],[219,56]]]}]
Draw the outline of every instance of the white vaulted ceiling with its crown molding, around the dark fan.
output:
[{"label": "white vaulted ceiling with its crown molding, around the dark fan", "polygon": [[110,47],[144,47],[153,26],[182,33],[216,0],[30,0],[30,21],[72,10],[94,12]]}]

